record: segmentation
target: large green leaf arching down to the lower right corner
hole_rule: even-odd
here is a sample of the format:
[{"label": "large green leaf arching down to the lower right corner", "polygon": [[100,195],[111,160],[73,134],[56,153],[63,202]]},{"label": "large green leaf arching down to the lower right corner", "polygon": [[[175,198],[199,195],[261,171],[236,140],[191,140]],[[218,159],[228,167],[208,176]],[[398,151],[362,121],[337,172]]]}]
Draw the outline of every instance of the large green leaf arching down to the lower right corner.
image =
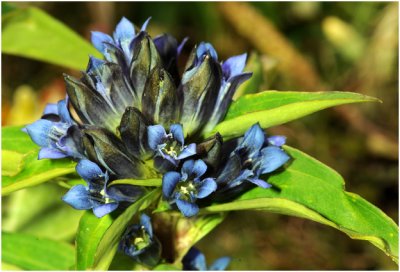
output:
[{"label": "large green leaf arching down to the lower right corner", "polygon": [[259,209],[307,218],[367,240],[398,261],[398,227],[380,209],[344,190],[343,178],[314,158],[285,146],[293,158],[269,177],[271,189],[255,188],[237,200],[204,208],[204,212]]}]

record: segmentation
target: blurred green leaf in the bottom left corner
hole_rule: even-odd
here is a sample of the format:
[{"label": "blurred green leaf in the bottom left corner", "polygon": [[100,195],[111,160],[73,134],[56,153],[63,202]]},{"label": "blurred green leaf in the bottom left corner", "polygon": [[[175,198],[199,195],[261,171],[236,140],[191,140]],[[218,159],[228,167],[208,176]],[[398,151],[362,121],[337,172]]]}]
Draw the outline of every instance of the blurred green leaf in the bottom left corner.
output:
[{"label": "blurred green leaf in the bottom left corner", "polygon": [[68,270],[74,247],[33,235],[2,232],[2,261],[24,270]]}]

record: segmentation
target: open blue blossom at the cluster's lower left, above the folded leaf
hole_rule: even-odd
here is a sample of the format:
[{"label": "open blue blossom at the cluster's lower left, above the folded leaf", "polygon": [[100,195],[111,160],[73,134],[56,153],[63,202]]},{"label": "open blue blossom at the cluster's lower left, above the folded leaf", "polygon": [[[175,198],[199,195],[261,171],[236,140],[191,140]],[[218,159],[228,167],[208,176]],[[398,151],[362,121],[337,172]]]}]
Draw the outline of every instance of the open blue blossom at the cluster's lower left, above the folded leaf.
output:
[{"label": "open blue blossom at the cluster's lower left, above the folded leaf", "polygon": [[77,210],[93,209],[97,217],[103,217],[114,211],[121,201],[134,202],[143,193],[143,190],[136,186],[107,187],[108,174],[89,160],[79,161],[76,171],[87,182],[87,186],[75,185],[62,200]]}]

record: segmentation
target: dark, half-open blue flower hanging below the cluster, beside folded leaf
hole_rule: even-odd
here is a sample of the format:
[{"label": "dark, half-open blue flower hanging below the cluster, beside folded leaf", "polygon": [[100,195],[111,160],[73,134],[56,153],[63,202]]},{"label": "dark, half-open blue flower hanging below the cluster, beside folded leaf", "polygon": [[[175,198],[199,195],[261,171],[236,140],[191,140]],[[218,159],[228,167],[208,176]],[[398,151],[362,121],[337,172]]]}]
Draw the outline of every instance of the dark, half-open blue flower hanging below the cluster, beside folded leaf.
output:
[{"label": "dark, half-open blue flower hanging below the cluster, beside folded leaf", "polygon": [[149,267],[157,265],[161,256],[161,244],[153,234],[150,217],[142,214],[140,224],[126,229],[119,250],[138,263]]}]

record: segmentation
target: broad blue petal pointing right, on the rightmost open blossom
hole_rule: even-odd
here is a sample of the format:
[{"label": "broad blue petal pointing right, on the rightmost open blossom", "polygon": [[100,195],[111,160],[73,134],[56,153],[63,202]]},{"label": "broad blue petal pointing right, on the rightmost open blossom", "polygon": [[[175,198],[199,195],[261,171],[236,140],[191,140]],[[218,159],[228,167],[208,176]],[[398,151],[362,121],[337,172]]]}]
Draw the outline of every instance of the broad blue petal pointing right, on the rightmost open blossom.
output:
[{"label": "broad blue petal pointing right, on the rightmost open blossom", "polygon": [[289,155],[276,146],[268,146],[261,150],[261,168],[260,173],[270,173],[290,159]]}]

